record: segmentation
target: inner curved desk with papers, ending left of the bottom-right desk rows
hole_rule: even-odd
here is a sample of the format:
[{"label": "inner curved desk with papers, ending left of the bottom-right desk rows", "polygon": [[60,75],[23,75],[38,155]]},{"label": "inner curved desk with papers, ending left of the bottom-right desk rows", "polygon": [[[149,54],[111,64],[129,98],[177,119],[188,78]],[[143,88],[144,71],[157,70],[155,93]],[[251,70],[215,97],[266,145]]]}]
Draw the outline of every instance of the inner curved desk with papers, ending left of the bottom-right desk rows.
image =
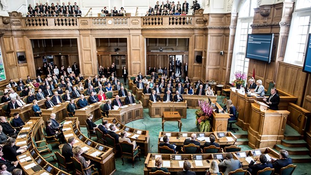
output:
[{"label": "inner curved desk with papers, ending left of the bottom-right desk rows", "polygon": [[[119,130],[116,133],[120,135],[122,130],[127,130],[127,137],[131,139],[133,142],[134,140],[136,141],[136,144],[139,146],[141,149],[141,152],[147,157],[150,149],[150,135],[149,131],[147,130],[138,130],[135,128],[130,128],[125,126],[124,124],[121,124],[117,119],[115,118],[105,118],[108,120],[109,123],[114,123],[116,124],[116,128]],[[134,135],[139,135],[137,138],[134,137]]]}]

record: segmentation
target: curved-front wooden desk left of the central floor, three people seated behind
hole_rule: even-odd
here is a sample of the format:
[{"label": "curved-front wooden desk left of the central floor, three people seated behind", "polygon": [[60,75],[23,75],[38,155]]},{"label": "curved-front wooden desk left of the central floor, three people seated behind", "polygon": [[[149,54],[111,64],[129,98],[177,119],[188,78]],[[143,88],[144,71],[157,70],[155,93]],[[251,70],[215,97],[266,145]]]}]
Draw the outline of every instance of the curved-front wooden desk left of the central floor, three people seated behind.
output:
[{"label": "curved-front wooden desk left of the central floor, three people seated behind", "polygon": [[118,110],[110,110],[108,117],[116,118],[122,124],[142,119],[144,118],[143,106],[141,103],[122,106]]}]

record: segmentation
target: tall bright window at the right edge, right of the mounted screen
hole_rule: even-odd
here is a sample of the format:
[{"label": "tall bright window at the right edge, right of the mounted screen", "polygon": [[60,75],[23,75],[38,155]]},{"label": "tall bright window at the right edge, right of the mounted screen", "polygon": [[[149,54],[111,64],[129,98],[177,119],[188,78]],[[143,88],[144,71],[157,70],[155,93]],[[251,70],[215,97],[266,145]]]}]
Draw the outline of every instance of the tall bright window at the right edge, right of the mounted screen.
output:
[{"label": "tall bright window at the right edge, right of the mounted screen", "polygon": [[285,62],[297,65],[303,64],[307,37],[311,32],[310,6],[311,2],[309,0],[297,0],[284,57]]}]

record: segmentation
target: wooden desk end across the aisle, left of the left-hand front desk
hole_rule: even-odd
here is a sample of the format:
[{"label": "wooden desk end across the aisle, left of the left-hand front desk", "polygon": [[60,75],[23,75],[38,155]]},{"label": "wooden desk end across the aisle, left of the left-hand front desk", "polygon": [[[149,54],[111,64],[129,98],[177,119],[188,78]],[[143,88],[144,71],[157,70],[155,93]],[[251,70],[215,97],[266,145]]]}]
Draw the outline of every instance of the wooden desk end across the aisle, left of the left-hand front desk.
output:
[{"label": "wooden desk end across the aisle, left of the left-hand front desk", "polygon": [[94,120],[98,120],[101,118],[99,106],[102,104],[102,102],[97,102],[94,104],[91,104],[87,107],[75,110],[74,116],[79,118],[81,126],[85,126],[85,121],[87,119],[88,114],[93,114]]}]

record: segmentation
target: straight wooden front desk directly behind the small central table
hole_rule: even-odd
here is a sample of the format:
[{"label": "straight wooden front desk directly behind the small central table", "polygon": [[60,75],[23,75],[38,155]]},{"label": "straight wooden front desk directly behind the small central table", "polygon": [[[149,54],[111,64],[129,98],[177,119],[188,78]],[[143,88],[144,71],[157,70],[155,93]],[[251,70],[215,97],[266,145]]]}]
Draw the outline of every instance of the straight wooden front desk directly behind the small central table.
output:
[{"label": "straight wooden front desk directly behind the small central table", "polygon": [[182,118],[187,118],[187,101],[184,102],[151,102],[149,101],[149,116],[162,117],[165,111],[177,111]]}]

